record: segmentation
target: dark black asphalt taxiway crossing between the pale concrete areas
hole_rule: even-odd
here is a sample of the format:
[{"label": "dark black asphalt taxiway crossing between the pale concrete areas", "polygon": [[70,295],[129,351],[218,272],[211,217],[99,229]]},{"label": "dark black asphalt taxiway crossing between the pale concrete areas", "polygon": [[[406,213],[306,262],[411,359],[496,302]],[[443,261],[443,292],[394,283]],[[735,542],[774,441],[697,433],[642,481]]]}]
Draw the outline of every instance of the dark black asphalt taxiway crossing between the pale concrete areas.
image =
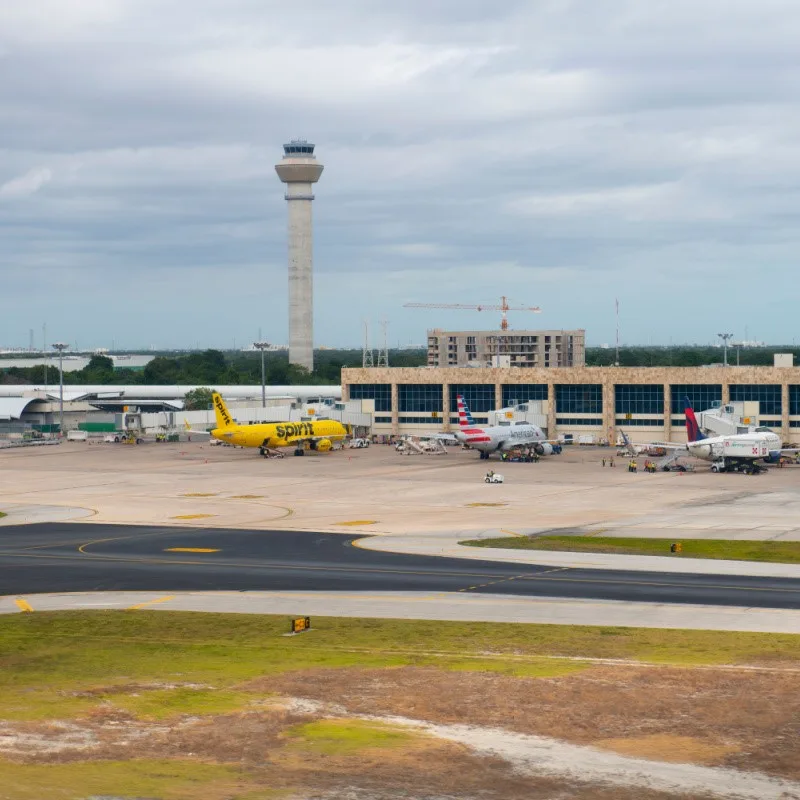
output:
[{"label": "dark black asphalt taxiway crossing between the pale concrete areas", "polygon": [[[358,536],[80,523],[0,529],[0,595],[416,591],[800,609],[800,580],[570,569],[360,549]],[[182,552],[173,548],[214,550]]]}]

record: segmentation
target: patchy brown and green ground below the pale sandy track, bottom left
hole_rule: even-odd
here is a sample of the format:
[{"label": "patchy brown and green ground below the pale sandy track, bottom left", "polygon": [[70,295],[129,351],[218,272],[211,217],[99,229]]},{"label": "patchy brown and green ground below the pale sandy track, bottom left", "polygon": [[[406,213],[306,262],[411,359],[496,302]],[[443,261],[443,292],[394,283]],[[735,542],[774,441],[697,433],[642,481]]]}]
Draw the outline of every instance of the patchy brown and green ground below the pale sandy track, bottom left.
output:
[{"label": "patchy brown and green ground below the pale sandy track, bottom left", "polygon": [[[603,788],[520,775],[501,758],[459,744],[356,720],[270,709],[186,718],[169,725],[121,712],[77,723],[21,723],[71,749],[34,746],[0,761],[2,800],[74,800],[87,791],[162,800],[475,798],[639,800],[641,789]],[[91,789],[89,788],[91,787]],[[678,800],[648,792],[652,800]]]}]

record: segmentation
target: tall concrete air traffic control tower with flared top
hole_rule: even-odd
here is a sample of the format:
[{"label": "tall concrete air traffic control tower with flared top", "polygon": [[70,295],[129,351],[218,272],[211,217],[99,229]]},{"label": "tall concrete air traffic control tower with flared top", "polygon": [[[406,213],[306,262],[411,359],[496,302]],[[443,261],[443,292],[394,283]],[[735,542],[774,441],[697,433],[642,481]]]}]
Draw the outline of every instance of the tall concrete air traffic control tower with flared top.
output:
[{"label": "tall concrete air traffic control tower with flared top", "polygon": [[311,190],[322,170],[314,145],[304,139],[285,144],[283,158],[275,165],[289,203],[289,363],[309,372],[314,369]]}]

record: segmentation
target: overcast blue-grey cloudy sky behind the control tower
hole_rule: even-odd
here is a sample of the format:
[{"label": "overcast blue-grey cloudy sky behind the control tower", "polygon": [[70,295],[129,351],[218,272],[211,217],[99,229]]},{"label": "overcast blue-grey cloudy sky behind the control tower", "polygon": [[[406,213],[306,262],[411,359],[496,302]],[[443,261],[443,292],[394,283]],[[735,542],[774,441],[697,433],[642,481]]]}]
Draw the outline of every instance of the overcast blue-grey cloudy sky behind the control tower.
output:
[{"label": "overcast blue-grey cloudy sky behind the control tower", "polygon": [[0,4],[0,346],[287,338],[282,143],[317,145],[315,340],[791,342],[797,0]]}]

